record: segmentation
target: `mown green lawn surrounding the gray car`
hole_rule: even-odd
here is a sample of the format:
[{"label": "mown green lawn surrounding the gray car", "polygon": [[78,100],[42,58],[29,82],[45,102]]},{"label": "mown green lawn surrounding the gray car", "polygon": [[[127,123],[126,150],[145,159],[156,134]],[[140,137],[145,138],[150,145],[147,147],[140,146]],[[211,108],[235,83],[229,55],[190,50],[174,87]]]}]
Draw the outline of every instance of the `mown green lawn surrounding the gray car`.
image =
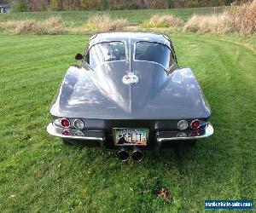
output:
[{"label": "mown green lawn surrounding the gray car", "polygon": [[[0,37],[1,212],[201,211],[205,199],[255,199],[255,49],[236,37],[171,37],[207,96],[215,133],[125,164],[113,151],[65,146],[46,132],[51,100],[89,37]],[[160,187],[172,204],[155,197]]]}]

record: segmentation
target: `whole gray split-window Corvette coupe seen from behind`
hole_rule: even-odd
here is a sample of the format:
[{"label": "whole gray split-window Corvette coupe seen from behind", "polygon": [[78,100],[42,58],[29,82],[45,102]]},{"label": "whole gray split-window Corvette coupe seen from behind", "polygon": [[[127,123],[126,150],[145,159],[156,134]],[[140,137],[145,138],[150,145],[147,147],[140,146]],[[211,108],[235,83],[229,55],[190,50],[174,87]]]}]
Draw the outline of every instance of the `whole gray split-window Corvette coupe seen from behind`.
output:
[{"label": "whole gray split-window Corvette coupe seen from behind", "polygon": [[53,101],[50,135],[117,148],[121,160],[142,150],[212,135],[210,107],[189,67],[177,66],[171,40],[151,32],[109,32],[76,55]]}]

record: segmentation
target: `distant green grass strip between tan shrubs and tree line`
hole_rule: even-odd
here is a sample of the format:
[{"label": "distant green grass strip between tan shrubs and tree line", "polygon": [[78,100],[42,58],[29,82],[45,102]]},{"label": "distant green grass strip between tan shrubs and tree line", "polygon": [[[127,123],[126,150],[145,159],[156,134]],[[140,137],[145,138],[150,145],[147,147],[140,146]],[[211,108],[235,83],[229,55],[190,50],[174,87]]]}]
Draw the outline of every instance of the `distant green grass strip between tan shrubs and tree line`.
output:
[{"label": "distant green grass strip between tan shrubs and tree line", "polygon": [[139,10],[113,10],[110,12],[99,11],[61,11],[61,12],[33,12],[0,14],[0,21],[20,19],[46,19],[52,15],[61,15],[63,20],[74,23],[76,26],[84,23],[93,14],[110,14],[112,17],[125,18],[131,23],[140,24],[148,20],[153,14],[175,14],[183,20],[188,20],[192,14],[210,14],[223,11],[224,7],[216,8],[191,8],[191,9],[139,9]]}]

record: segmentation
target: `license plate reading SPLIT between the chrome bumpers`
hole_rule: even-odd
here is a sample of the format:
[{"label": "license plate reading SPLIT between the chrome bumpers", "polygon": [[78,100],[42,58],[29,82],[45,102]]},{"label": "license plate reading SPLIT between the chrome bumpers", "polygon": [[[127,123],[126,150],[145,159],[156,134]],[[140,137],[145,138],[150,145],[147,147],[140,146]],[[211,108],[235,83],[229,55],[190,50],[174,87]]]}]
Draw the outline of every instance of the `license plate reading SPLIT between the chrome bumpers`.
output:
[{"label": "license plate reading SPLIT between the chrome bumpers", "polygon": [[113,141],[116,146],[147,146],[148,129],[113,129]]}]

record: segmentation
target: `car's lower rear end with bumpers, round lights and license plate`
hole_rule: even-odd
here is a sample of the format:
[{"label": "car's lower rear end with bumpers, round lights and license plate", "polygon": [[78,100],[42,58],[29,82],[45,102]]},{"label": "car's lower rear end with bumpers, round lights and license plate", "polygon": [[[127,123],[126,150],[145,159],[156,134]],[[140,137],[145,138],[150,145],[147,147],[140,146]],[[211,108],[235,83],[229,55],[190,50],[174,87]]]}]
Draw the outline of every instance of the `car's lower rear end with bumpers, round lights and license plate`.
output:
[{"label": "car's lower rear end with bumpers, round lights and license plate", "polygon": [[196,140],[213,134],[207,118],[189,119],[84,119],[54,118],[50,135],[80,141],[92,147],[148,149],[172,141]]}]

